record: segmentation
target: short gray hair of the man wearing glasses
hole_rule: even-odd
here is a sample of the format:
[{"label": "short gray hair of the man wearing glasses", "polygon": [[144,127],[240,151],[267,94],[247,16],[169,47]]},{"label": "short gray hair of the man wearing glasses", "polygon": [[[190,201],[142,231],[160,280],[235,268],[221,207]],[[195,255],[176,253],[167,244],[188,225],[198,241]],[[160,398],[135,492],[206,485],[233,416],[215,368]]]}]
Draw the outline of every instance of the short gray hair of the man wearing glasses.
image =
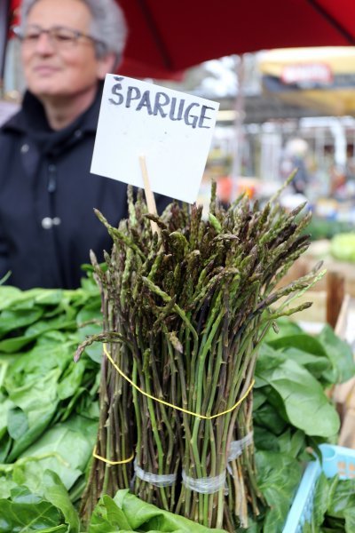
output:
[{"label": "short gray hair of the man wearing glasses", "polygon": [[[28,13],[39,0],[22,0],[21,29],[27,24]],[[102,58],[107,52],[114,52],[116,64],[121,60],[126,44],[128,28],[122,8],[114,0],[80,0],[91,12],[90,36],[97,39],[96,54]]]}]

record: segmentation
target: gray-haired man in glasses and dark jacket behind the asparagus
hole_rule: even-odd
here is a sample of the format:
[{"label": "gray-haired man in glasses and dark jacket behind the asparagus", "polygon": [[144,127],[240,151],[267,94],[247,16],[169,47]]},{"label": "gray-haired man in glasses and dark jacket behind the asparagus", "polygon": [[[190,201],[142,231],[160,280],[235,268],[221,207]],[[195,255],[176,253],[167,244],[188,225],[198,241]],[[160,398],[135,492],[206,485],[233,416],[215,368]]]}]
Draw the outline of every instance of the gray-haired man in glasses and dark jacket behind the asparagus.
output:
[{"label": "gray-haired man in glasses and dark jacket behind the asparagus", "polygon": [[[32,287],[76,288],[90,250],[111,237],[93,209],[117,226],[127,186],[91,174],[106,73],[127,36],[114,0],[23,0],[21,59],[28,90],[0,130],[0,278]],[[117,161],[117,164],[120,162]],[[170,199],[156,195],[158,211]]]}]

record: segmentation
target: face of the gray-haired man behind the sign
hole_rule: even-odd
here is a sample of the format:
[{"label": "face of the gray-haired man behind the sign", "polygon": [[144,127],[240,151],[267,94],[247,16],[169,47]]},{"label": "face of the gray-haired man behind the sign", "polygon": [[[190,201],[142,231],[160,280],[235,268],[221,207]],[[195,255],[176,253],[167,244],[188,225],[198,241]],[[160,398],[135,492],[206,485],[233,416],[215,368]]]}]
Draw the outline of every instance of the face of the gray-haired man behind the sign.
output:
[{"label": "face of the gray-haired man behind the sign", "polygon": [[[91,12],[80,0],[38,0],[28,13],[28,32],[59,27],[90,35]],[[48,33],[23,41],[22,61],[28,89],[39,99],[70,98],[91,91],[110,68],[107,59],[96,58],[91,39],[79,37],[65,43]]]}]

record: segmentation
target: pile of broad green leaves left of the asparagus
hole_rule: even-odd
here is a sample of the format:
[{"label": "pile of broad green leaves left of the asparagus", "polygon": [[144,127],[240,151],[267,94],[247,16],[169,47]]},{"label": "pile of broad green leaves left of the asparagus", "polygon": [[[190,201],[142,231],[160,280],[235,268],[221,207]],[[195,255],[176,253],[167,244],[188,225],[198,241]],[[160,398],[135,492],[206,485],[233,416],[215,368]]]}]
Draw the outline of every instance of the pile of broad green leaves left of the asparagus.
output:
[{"label": "pile of broad green leaves left of the asparagus", "polygon": [[0,287],[0,477],[50,469],[72,501],[81,496],[99,419],[100,351],[79,364],[73,356],[102,330],[99,305],[90,278],[78,290]]}]

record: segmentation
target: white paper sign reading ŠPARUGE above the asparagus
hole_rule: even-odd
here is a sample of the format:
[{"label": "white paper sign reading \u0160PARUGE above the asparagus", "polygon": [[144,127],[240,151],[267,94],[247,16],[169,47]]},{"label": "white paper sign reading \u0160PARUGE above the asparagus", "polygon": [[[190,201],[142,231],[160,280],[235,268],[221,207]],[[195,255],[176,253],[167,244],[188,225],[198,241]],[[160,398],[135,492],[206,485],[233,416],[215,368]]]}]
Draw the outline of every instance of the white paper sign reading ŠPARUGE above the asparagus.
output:
[{"label": "white paper sign reading \u0160PARUGE above the asparagus", "polygon": [[197,199],[219,104],[130,77],[106,75],[91,172],[177,200]]}]

